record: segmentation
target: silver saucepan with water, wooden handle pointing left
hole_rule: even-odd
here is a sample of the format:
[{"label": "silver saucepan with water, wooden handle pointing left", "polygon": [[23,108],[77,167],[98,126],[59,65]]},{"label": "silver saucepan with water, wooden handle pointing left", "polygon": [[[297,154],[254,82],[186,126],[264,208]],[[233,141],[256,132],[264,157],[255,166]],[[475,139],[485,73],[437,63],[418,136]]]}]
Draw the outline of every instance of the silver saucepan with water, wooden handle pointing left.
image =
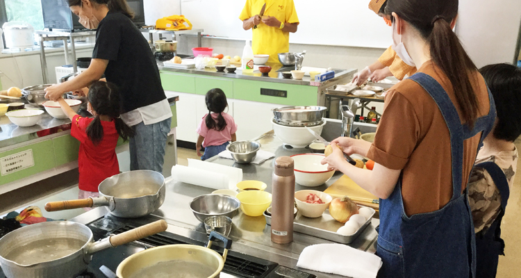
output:
[{"label": "silver saucepan with water, wooden handle pointing left", "polygon": [[101,181],[99,197],[45,204],[46,211],[108,206],[120,218],[138,218],[156,211],[165,202],[165,177],[151,170],[116,174]]}]

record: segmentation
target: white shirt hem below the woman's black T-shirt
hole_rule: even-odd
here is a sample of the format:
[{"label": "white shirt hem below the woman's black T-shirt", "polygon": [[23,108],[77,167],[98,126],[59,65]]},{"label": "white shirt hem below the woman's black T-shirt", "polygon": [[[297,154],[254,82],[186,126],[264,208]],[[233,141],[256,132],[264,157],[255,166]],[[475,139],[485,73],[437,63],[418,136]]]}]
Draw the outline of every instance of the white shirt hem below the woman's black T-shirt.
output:
[{"label": "white shirt hem below the woman's black T-shirt", "polygon": [[128,126],[135,126],[140,122],[144,122],[146,125],[155,124],[167,120],[169,117],[172,117],[172,110],[170,110],[168,99],[136,108],[121,115],[123,122]]}]

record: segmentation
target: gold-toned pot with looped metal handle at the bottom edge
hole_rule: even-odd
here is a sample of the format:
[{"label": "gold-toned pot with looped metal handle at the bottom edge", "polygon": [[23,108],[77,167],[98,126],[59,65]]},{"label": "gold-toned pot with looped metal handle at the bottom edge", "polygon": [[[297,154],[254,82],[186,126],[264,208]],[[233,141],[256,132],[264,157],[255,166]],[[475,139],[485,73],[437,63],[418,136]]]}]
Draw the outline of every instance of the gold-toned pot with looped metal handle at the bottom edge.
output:
[{"label": "gold-toned pot with looped metal handle at the bottom edge", "polygon": [[[224,242],[222,256],[210,249],[213,240]],[[119,278],[171,277],[219,277],[226,255],[231,247],[231,239],[211,231],[208,245],[165,245],[153,247],[129,256],[119,263],[116,275]]]}]

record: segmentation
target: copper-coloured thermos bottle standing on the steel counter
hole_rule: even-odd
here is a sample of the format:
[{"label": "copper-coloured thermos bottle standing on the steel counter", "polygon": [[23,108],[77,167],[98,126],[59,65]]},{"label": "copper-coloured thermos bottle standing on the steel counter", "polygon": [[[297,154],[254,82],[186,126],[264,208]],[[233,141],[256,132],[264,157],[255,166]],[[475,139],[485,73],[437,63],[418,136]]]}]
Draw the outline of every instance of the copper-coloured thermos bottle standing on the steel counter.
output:
[{"label": "copper-coloured thermos bottle standing on the steel counter", "polygon": [[278,244],[293,241],[294,167],[293,158],[289,156],[281,156],[275,160],[272,178],[272,241]]}]

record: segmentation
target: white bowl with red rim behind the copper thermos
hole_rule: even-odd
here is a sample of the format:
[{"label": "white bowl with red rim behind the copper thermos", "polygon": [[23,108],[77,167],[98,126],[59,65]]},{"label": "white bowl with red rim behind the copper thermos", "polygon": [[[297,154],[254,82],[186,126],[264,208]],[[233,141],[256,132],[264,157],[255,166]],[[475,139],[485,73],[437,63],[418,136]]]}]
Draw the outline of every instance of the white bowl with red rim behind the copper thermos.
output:
[{"label": "white bowl with red rim behind the copper thermos", "polygon": [[301,186],[317,187],[329,181],[335,170],[327,170],[327,164],[322,165],[324,154],[295,154],[295,181]]}]

